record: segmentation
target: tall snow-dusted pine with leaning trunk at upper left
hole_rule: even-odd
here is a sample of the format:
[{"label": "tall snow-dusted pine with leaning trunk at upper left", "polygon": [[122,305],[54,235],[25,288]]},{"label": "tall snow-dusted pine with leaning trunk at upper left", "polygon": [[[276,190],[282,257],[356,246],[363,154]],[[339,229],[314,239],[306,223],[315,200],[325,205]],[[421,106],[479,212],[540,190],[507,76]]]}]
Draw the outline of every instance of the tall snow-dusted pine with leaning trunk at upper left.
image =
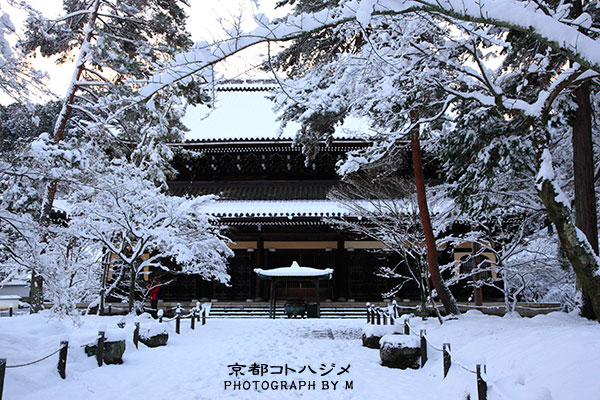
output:
[{"label": "tall snow-dusted pine with leaning trunk at upper left", "polygon": [[[131,126],[138,122],[135,115],[152,111],[148,107],[164,104],[158,100],[139,104],[135,93],[140,82],[154,73],[156,61],[172,59],[176,52],[191,44],[185,28],[186,14],[182,8],[185,4],[185,1],[161,0],[65,0],[65,14],[47,19],[33,7],[20,3],[30,14],[26,38],[20,43],[26,53],[39,50],[44,57],[59,56],[59,62],[76,54],[73,76],[52,130],[54,144],[75,136],[95,141],[98,146],[104,146],[105,151],[125,157],[136,153],[136,147],[150,146],[152,155],[159,156],[153,159],[164,164],[160,157],[171,153],[164,149],[163,142],[156,140],[158,137],[145,141],[139,135],[126,134],[134,131]],[[188,82],[180,88],[189,94],[194,92],[192,87]],[[172,91],[175,90],[173,87]],[[71,118],[74,109],[80,112],[81,118]],[[133,112],[127,115],[128,110]],[[174,115],[168,110],[167,114]],[[173,124],[175,121],[158,122]],[[74,129],[68,131],[69,123]],[[124,129],[126,125],[130,128]],[[176,137],[178,132],[181,131],[171,131]],[[137,151],[136,154],[149,153]],[[143,161],[138,160],[138,165],[141,164]],[[49,223],[58,185],[57,179],[47,185],[40,215],[44,225]],[[41,308],[42,280],[35,271],[32,274],[32,309],[36,311]]]}]

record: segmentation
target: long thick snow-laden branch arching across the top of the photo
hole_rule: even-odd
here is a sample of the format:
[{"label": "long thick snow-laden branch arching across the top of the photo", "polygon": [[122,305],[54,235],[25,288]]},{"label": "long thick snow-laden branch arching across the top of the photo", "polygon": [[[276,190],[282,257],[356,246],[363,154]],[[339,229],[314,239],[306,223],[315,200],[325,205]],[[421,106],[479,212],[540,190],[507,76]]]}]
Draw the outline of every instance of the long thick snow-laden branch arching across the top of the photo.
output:
[{"label": "long thick snow-laden branch arching across the top of the photo", "polygon": [[[290,15],[272,21],[259,14],[256,16],[258,27],[255,30],[212,44],[198,43],[189,52],[178,55],[142,88],[140,100],[144,101],[175,83],[185,83],[193,75],[202,75],[209,67],[261,43],[295,40],[311,32],[348,23],[358,23],[363,26],[374,16],[399,16],[415,11],[444,15],[466,23],[480,22],[521,31],[546,43],[583,67],[600,72],[600,43],[580,32],[578,26],[572,26],[561,20],[561,13],[550,15],[544,8],[531,2],[513,0],[359,2],[351,0],[343,1],[334,11],[324,9],[317,13]],[[208,76],[205,76],[205,79],[209,81]]]}]

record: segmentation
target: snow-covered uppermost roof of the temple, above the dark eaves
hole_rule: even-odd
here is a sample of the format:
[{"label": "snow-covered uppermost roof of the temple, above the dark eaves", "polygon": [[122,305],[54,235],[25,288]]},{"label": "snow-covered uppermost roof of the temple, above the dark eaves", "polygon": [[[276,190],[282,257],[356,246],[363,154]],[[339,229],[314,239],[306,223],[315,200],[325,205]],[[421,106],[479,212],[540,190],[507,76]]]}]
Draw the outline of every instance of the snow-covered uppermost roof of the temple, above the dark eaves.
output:
[{"label": "snow-covered uppermost roof of the temple, above the dark eaves", "polygon": [[[281,131],[274,103],[267,99],[275,85],[271,81],[226,82],[217,86],[215,107],[205,105],[188,107],[183,123],[190,129],[186,139],[293,139],[300,128],[289,123]],[[368,124],[356,118],[347,118],[336,129],[335,137],[356,137],[357,132],[368,131]]]}]

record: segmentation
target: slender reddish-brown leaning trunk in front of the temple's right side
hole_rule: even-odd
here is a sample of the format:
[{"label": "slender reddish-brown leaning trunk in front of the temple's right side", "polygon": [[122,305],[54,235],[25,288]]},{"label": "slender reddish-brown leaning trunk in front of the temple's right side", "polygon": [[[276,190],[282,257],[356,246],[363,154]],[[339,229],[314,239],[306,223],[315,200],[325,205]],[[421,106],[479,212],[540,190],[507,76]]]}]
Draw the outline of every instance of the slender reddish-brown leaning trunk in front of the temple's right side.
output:
[{"label": "slender reddish-brown leaning trunk in front of the temple's right side", "polygon": [[460,314],[456,305],[454,296],[448,287],[442,281],[440,269],[437,261],[437,248],[435,246],[435,238],[431,227],[431,218],[429,216],[429,208],[427,207],[427,197],[425,194],[425,176],[423,174],[423,159],[421,157],[421,144],[419,143],[418,128],[413,129],[411,134],[411,148],[413,158],[413,170],[415,174],[415,184],[417,187],[417,203],[419,204],[419,217],[423,232],[425,234],[425,246],[427,247],[427,261],[429,263],[429,274],[433,287],[440,297],[440,301],[444,305],[446,312],[450,314]]}]

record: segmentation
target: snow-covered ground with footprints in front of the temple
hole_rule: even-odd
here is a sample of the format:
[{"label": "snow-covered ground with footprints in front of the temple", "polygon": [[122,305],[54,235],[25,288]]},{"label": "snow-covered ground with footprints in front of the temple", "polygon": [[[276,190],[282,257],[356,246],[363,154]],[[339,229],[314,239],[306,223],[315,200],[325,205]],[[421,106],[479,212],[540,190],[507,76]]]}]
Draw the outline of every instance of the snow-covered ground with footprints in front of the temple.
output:
[{"label": "snow-covered ground with footprints in front of the temple", "polygon": [[[362,347],[362,320],[209,319],[205,326],[170,333],[166,347],[147,348],[131,342],[133,318],[126,319],[124,364],[99,368],[82,344],[99,327],[120,331],[121,317],[82,318],[80,327],[35,316],[0,318],[0,358],[8,365],[40,358],[68,337],[67,379],[56,372],[57,355],[38,364],[8,369],[4,400],[19,399],[471,399],[477,398],[475,376],[457,366],[443,379],[442,357],[429,348],[420,370],[382,367],[378,350]],[[600,325],[564,313],[535,318],[500,318],[470,311],[459,320],[411,319],[418,330],[469,368],[487,364],[488,398],[597,399],[600,380]],[[230,375],[234,364],[245,375]],[[250,369],[253,363],[265,364]],[[285,375],[285,366],[288,368]],[[311,371],[314,371],[314,373]],[[279,371],[283,373],[278,374]],[[328,372],[329,371],[329,372]],[[243,390],[243,382],[250,382]],[[258,381],[259,389],[252,383]],[[263,385],[265,389],[261,389]],[[282,381],[288,389],[282,389]],[[306,382],[301,390],[290,390]],[[332,390],[331,381],[338,381]],[[229,383],[227,383],[229,382]],[[234,382],[241,390],[234,390]],[[314,389],[308,384],[314,382]],[[324,389],[323,382],[329,382]],[[352,388],[346,388],[352,382]],[[273,389],[278,385],[277,390]],[[226,387],[227,386],[227,387]],[[266,387],[269,387],[266,389]]]}]

